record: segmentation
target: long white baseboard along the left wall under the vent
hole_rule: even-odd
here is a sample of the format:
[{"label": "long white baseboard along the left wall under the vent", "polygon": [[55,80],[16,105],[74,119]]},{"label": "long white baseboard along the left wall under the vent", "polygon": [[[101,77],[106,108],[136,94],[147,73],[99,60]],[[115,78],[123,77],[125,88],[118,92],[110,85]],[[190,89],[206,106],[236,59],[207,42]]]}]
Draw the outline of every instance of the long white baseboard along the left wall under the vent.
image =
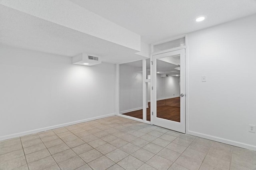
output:
[{"label": "long white baseboard along the left wall under the vent", "polygon": [[84,122],[88,122],[88,121],[94,121],[96,119],[102,119],[105,117],[110,117],[110,116],[114,116],[116,115],[116,113],[111,113],[108,115],[103,115],[103,116],[98,116],[98,117],[92,117],[92,118],[88,118],[88,119],[83,119],[83,120],[79,120],[79,121],[74,121],[74,122],[69,122],[69,123],[63,123],[60,125],[54,125],[54,126],[50,126],[50,127],[44,127],[44,128],[38,128],[38,129],[34,129],[34,130],[28,130],[26,132],[20,132],[20,133],[14,133],[14,134],[8,134],[6,136],[0,136],[0,141],[1,140],[6,140],[6,139],[10,139],[10,138],[16,138],[16,137],[20,137],[20,136],[24,136],[27,134],[33,134],[33,133],[38,133],[38,132],[44,132],[46,130],[52,130],[55,128],[60,128],[60,127],[66,127],[66,126],[70,126],[70,125],[75,125],[78,123],[84,123]]}]

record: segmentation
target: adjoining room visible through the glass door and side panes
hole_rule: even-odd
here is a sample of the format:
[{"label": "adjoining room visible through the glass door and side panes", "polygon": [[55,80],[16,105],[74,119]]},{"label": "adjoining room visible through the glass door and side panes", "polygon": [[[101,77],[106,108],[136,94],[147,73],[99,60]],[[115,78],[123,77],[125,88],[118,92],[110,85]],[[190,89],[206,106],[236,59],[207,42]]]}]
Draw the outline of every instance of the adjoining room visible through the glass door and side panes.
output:
[{"label": "adjoining room visible through the glass door and side panes", "polygon": [[[176,56],[179,61],[179,56]],[[146,60],[146,75],[150,79],[150,61]],[[168,61],[157,61],[157,117],[180,122],[180,67]],[[142,61],[120,64],[120,113],[143,119]],[[147,83],[146,120],[150,119],[150,82]]]}]

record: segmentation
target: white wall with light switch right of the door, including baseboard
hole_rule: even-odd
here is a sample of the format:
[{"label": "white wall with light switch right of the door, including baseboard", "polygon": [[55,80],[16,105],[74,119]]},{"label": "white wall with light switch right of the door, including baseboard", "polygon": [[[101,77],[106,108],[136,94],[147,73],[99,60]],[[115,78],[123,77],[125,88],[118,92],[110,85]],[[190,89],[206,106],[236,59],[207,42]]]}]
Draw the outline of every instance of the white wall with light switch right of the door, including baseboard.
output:
[{"label": "white wall with light switch right of the door, including baseboard", "polygon": [[[256,15],[187,35],[187,132],[256,150]],[[206,82],[201,82],[206,76]]]}]

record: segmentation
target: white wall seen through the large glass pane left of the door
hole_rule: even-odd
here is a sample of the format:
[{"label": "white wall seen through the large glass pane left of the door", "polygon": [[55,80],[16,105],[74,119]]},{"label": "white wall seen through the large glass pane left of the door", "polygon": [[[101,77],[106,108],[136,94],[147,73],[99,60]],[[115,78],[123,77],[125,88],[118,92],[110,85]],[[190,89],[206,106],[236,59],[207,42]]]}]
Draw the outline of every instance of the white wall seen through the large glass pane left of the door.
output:
[{"label": "white wall seen through the large glass pane left of the door", "polygon": [[120,113],[142,109],[142,67],[120,64],[119,75]]}]

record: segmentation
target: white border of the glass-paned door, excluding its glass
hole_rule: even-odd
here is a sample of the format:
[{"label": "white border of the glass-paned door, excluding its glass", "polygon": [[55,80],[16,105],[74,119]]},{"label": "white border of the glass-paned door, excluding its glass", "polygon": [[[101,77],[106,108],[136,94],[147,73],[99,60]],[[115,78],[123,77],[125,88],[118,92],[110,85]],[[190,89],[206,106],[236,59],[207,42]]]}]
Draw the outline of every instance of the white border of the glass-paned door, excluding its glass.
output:
[{"label": "white border of the glass-paned door, excluding its glass", "polygon": [[[182,50],[182,49],[184,49],[184,50]],[[184,57],[183,57],[183,59],[184,59],[184,61],[183,61],[184,72],[182,73],[182,77],[183,77],[183,81],[184,81],[185,84],[183,86],[183,89],[181,89],[181,92],[180,92],[180,93],[184,94],[184,99],[183,99],[184,104],[183,104],[183,107],[181,108],[181,112],[184,112],[184,115],[181,115],[181,124],[176,123],[174,121],[170,121],[170,123],[172,123],[172,130],[180,131],[180,132],[183,132],[183,133],[186,133],[186,105],[185,105],[185,102],[186,102],[186,98],[185,98],[185,92],[186,92],[186,61],[185,61],[186,60],[186,51],[185,50],[186,50],[186,46],[182,46],[182,47],[177,47],[177,48],[173,48],[173,49],[160,51],[160,52],[157,52],[157,53],[152,53],[150,55],[150,61],[151,61],[150,75],[151,75],[151,78],[153,78],[153,72],[156,73],[156,70],[153,71],[152,61],[153,61],[153,64],[156,64],[156,61],[155,61],[156,59],[153,59],[153,56],[158,55],[159,58],[161,58],[161,54],[164,55],[166,53],[172,53],[172,55],[175,55],[175,53],[180,53],[180,52],[182,53],[182,55],[184,55]],[[154,58],[157,58],[157,57],[154,57]],[[156,69],[156,65],[154,65],[154,69]],[[154,87],[156,87],[156,82],[151,83],[151,93],[150,93],[151,94],[150,95],[150,100],[151,100],[151,103],[152,103],[151,110],[150,110],[150,113],[151,113],[150,114],[150,117],[151,117],[150,124],[151,125],[154,124],[154,120],[156,121],[156,88],[154,89]],[[153,104],[153,101],[155,102],[154,104]],[[152,113],[154,113],[154,115]],[[157,118],[157,119],[160,119],[160,118]],[[167,123],[169,120],[162,119],[162,121]],[[159,122],[157,122],[157,123],[159,124]],[[166,125],[163,125],[163,127],[166,127]]]}]

